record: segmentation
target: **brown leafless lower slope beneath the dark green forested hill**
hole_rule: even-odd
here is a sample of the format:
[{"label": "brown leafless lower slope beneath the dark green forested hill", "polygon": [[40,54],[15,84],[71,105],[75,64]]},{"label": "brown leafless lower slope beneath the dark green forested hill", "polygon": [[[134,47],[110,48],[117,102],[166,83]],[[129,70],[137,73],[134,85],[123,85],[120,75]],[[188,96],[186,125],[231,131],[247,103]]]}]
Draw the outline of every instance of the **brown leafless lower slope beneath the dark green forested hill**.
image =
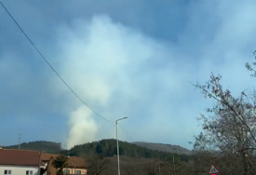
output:
[{"label": "brown leafless lower slope beneath the dark green forested hill", "polygon": [[[120,156],[120,171],[122,175],[159,175],[173,174],[173,168],[176,168],[176,175],[187,175],[188,170],[193,163],[181,162],[175,159],[175,163],[170,160],[160,161],[158,159],[134,158],[126,155]],[[97,167],[88,168],[88,174],[97,174],[105,168],[102,175],[117,175],[117,156],[112,157],[90,157],[88,158],[90,165],[98,165]]]}]

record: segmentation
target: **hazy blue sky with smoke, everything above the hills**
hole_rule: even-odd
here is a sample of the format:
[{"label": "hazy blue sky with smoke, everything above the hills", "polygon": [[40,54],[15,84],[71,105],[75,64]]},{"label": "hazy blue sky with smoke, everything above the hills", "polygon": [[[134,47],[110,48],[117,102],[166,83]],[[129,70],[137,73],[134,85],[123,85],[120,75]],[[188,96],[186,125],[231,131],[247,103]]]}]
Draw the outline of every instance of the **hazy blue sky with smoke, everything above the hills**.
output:
[{"label": "hazy blue sky with smoke, everything above the hills", "polygon": [[[189,82],[222,74],[236,95],[255,79],[255,1],[2,1],[52,66],[120,140],[179,144],[214,101]],[[0,7],[0,144],[115,138],[43,61]],[[131,139],[130,139],[131,137]]]}]

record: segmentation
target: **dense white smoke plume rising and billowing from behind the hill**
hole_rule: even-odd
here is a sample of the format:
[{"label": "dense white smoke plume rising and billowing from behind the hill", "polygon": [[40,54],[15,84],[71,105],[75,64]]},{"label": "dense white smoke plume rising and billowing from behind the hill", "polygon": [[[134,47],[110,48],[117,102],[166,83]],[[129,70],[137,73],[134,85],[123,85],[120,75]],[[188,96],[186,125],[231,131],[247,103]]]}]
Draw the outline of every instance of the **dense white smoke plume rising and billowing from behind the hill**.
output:
[{"label": "dense white smoke plume rising and billowing from behind the hill", "polygon": [[[167,46],[108,17],[76,20],[72,27],[62,27],[59,34],[61,54],[58,61],[61,66],[58,69],[63,78],[89,106],[112,121],[128,115],[132,123],[139,124],[139,117],[147,117],[148,124],[155,123],[152,114],[157,114],[162,103],[167,101],[167,96],[157,89],[168,89],[169,86],[182,89],[176,77],[171,77],[171,82],[168,80],[168,74],[174,74],[175,65],[168,65],[168,69],[155,68],[155,61],[167,58]],[[63,85],[57,86],[56,89],[59,91],[61,88],[64,96],[70,94]],[[177,96],[178,93],[175,90],[169,93],[174,94]],[[66,142],[68,148],[87,141],[115,137],[114,124],[85,111],[82,108],[84,104],[74,96],[70,96],[68,101],[68,105],[78,109],[72,114],[70,111],[74,109],[67,110],[70,129]],[[143,135],[147,132],[146,126],[130,126],[136,127],[131,130],[140,129]],[[158,130],[157,125],[152,129]],[[124,137],[128,138],[124,134],[122,136],[120,131],[120,139]],[[155,136],[144,136],[149,137]]]}]

